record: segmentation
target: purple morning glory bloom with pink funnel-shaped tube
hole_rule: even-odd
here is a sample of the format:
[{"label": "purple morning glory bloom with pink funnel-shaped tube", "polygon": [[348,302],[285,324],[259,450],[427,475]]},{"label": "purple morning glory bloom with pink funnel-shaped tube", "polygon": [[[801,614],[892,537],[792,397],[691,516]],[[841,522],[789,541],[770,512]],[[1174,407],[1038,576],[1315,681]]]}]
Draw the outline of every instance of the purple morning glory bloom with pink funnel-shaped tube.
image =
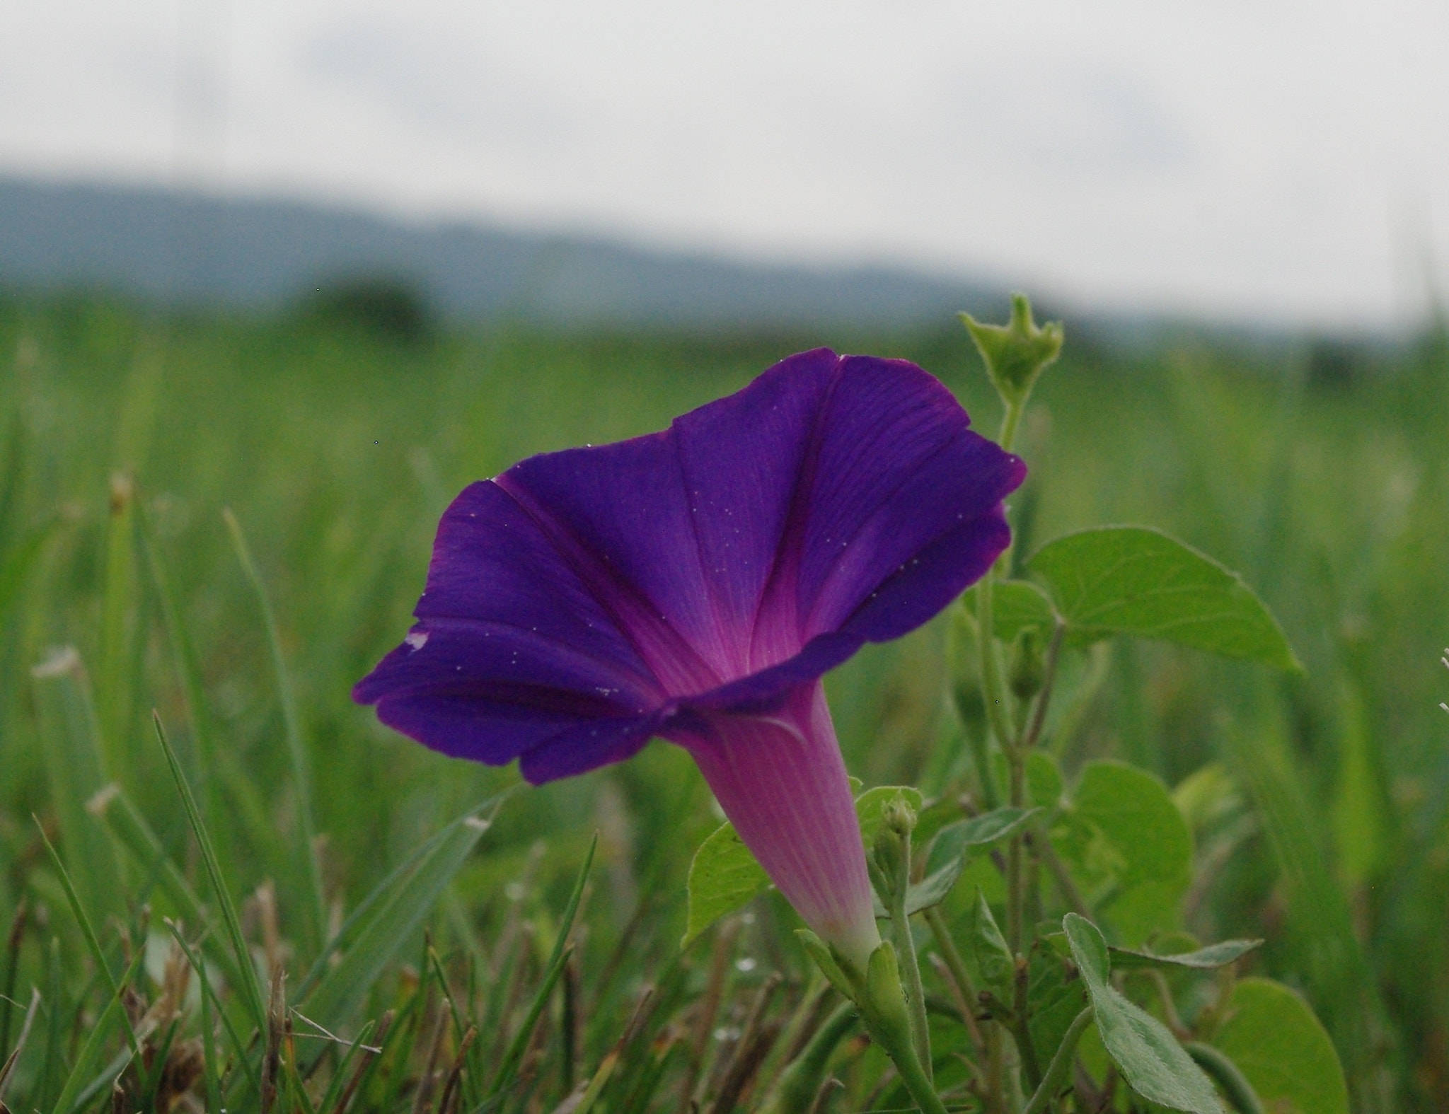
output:
[{"label": "purple morning glory bloom with pink funnel-shaped tube", "polygon": [[914,364],[817,349],[662,433],[530,456],[443,514],[417,623],[354,698],[533,784],[678,743],[864,962],[880,937],[820,677],[1007,546],[1026,468],[968,424]]}]

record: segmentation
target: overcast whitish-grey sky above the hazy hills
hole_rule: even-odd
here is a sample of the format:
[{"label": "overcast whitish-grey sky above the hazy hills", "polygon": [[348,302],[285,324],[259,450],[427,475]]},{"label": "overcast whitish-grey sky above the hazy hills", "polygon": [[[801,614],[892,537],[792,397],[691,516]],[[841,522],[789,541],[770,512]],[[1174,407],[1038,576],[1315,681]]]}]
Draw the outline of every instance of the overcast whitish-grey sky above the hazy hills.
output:
[{"label": "overcast whitish-grey sky above the hazy hills", "polygon": [[1391,326],[1449,3],[9,0],[0,171]]}]

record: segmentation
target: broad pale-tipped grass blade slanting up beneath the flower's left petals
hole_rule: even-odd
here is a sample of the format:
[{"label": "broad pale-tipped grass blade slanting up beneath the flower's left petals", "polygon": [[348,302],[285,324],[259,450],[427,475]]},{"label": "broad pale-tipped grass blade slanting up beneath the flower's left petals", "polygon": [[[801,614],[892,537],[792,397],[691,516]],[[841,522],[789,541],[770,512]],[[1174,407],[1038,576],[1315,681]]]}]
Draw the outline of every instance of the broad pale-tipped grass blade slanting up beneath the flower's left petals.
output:
[{"label": "broad pale-tipped grass blade slanting up beneath the flower's left petals", "polygon": [[[310,975],[303,982],[304,988],[312,984],[306,997],[301,992],[297,995],[309,1017],[327,1029],[336,1029],[361,1004],[488,830],[491,820],[478,814],[494,807],[497,798],[485,801],[452,821],[410,872],[396,881],[394,872],[378,888],[384,892],[374,891],[375,898],[368,901],[368,916],[356,923],[356,934],[342,960],[336,966],[326,966],[314,982]],[[339,939],[343,934],[339,933]]]}]

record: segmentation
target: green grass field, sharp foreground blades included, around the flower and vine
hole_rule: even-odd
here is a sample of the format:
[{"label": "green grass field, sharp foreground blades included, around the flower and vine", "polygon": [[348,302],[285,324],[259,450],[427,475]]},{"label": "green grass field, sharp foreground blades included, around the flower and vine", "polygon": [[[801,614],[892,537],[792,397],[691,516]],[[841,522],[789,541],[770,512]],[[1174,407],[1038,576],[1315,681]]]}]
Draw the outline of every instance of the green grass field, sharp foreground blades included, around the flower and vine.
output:
[{"label": "green grass field, sharp foreground blades included, around the flower and vine", "polygon": [[[658,429],[817,345],[916,359],[995,430],[998,403],[953,322],[920,336],[511,326],[404,343],[297,317],[0,301],[0,933],[16,926],[0,952],[0,1063],[41,995],[0,1101],[112,1110],[106,1069],[128,1055],[112,978],[132,987],[138,1033],[148,1002],[171,992],[185,1007],[138,1037],[148,1066],[126,1101],[148,1108],[190,1091],[184,1102],[235,1095],[227,1108],[252,1110],[272,1086],[275,1110],[546,1113],[590,1078],[601,1089],[585,1101],[611,1114],[688,1114],[691,1095],[713,1114],[758,1102],[816,991],[774,898],[681,953],[688,863],[719,824],[682,752],[653,743],[494,804],[511,769],[432,755],[348,692],[406,630],[438,516],[464,484]],[[1117,352],[1068,329],[1017,443],[1032,468],[1017,552],[1097,523],[1159,526],[1242,572],[1303,661],[1304,675],[1278,679],[1156,645],[1078,653],[1052,746],[1066,769],[1122,756],[1168,785],[1220,763],[1235,791],[1226,813],[1198,817],[1185,927],[1266,937],[1250,966],[1313,1002],[1362,1111],[1449,1108],[1446,432],[1442,339],[1377,352],[1184,335]],[[953,788],[964,755],[943,643],[936,621],[830,678],[867,785]],[[119,794],[93,801],[110,784]],[[478,805],[487,832],[452,824]],[[561,917],[596,833],[564,960]],[[167,918],[201,949],[217,997],[184,989],[175,963],[165,981]],[[238,969],[236,936],[255,972]],[[274,971],[300,1014],[258,1026],[277,1047],[248,1052],[248,1010],[270,1008]],[[212,1040],[216,1010],[235,1039]],[[364,1029],[387,1011],[385,1034]],[[349,1056],[312,1021],[383,1052]],[[849,1052],[835,1111],[906,1105],[878,1052]]]}]

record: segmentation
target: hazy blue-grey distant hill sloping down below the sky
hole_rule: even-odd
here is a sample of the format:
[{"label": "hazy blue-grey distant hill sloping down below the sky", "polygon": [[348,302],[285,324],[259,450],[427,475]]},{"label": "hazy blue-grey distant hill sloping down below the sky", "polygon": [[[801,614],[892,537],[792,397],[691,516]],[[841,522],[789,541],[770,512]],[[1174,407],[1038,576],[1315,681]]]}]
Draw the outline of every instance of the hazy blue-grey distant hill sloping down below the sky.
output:
[{"label": "hazy blue-grey distant hill sloping down below the sky", "polygon": [[751,265],[298,201],[0,177],[0,285],[274,309],[359,278],[412,284],[455,319],[706,329],[900,327],[1000,310],[1006,293],[885,268]]}]

